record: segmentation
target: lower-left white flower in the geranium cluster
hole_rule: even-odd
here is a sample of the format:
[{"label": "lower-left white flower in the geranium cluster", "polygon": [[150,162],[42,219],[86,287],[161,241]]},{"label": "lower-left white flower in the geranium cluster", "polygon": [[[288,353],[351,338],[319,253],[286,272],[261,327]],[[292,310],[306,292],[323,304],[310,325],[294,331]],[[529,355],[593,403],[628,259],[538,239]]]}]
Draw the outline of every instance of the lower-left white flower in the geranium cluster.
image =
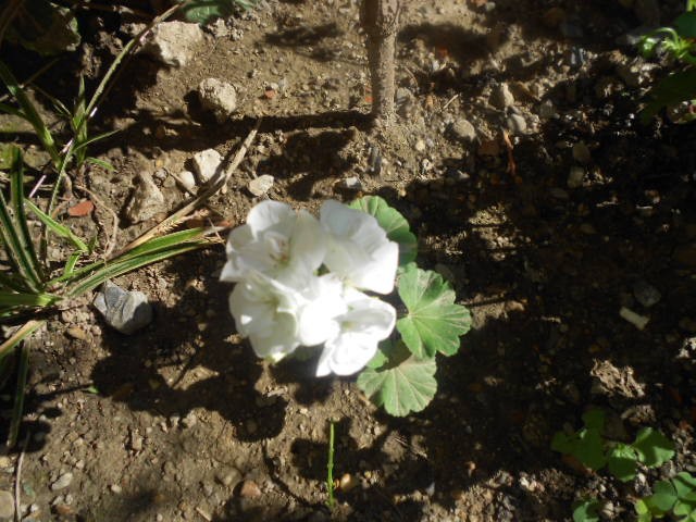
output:
[{"label": "lower-left white flower in the geranium cluster", "polygon": [[300,345],[298,311],[304,302],[294,288],[248,271],[229,295],[229,311],[256,355],[279,361]]}]

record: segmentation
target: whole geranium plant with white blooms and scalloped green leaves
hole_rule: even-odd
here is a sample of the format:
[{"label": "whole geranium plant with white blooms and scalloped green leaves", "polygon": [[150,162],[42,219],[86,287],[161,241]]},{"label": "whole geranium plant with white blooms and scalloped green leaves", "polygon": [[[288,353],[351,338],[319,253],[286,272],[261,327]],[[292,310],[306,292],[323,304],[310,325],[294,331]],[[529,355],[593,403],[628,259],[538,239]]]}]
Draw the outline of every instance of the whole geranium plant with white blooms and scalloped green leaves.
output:
[{"label": "whole geranium plant with white blooms and scalloped green leaves", "polygon": [[[236,283],[229,310],[257,356],[277,362],[318,347],[316,376],[362,370],[358,386],[394,415],[427,406],[435,356],[456,353],[470,327],[449,285],[413,262],[408,222],[378,197],[328,200],[319,219],[262,201],[229,234],[226,252],[221,279]],[[399,318],[377,297],[395,286]]]}]

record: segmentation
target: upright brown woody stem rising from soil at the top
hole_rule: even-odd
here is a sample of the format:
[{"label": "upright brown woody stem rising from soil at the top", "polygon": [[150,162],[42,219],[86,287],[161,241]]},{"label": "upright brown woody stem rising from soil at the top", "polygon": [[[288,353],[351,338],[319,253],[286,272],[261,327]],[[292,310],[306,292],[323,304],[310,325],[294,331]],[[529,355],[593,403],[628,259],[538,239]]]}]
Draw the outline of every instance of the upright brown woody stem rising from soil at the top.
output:
[{"label": "upright brown woody stem rising from soil at the top", "polygon": [[360,21],[366,33],[372,83],[372,115],[385,123],[394,116],[394,60],[401,0],[363,0]]}]

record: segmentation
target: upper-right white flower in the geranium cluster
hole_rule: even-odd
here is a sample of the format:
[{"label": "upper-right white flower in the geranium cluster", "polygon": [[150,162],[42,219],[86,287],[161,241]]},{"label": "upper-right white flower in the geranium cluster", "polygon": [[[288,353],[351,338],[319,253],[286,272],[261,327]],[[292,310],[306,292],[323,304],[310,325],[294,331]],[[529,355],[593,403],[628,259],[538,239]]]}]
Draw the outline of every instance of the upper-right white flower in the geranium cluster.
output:
[{"label": "upper-right white flower in the geranium cluster", "polygon": [[320,222],[328,232],[324,264],[347,284],[389,294],[399,261],[399,246],[387,238],[374,216],[338,201],[322,204]]}]

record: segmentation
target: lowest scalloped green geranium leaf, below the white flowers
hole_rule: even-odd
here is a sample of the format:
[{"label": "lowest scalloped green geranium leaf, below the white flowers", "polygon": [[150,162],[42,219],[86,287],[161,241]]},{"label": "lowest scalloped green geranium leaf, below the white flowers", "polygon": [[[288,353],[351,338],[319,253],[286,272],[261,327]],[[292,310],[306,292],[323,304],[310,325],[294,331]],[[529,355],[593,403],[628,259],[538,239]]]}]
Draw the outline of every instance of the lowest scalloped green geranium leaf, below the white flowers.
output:
[{"label": "lowest scalloped green geranium leaf, below the white flowers", "polygon": [[358,387],[387,413],[405,417],[423,410],[437,390],[435,359],[419,359],[402,343],[383,344],[387,362],[365,368],[358,376]]}]

